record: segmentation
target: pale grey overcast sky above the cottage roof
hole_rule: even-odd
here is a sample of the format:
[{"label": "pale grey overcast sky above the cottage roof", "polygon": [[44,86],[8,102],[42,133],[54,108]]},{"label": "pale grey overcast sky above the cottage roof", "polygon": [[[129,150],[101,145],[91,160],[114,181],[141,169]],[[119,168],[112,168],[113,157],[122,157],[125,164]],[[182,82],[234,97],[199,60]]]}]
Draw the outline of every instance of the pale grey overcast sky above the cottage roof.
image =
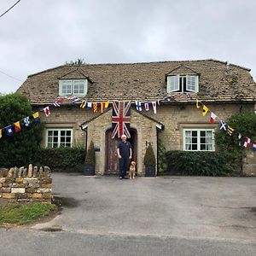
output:
[{"label": "pale grey overcast sky above the cottage roof", "polygon": [[[0,15],[17,0],[0,0]],[[0,18],[0,92],[66,61],[217,59],[256,79],[254,0],[21,0]]]}]

